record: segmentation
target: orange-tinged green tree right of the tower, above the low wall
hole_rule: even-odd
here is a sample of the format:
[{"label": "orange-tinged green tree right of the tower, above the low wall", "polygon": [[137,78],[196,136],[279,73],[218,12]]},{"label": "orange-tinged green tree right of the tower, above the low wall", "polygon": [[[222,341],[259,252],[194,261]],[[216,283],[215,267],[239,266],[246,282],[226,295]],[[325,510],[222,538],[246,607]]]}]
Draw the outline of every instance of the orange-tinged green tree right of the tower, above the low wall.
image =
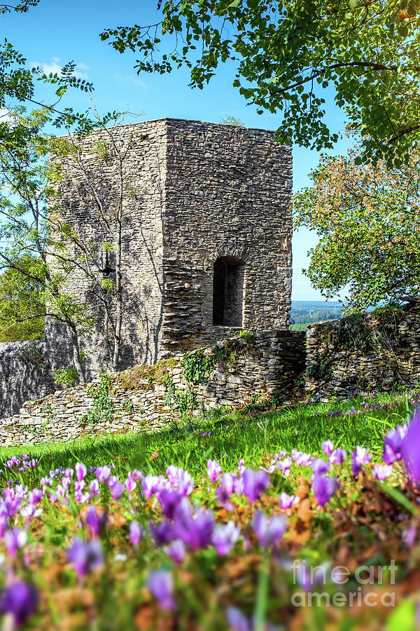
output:
[{"label": "orange-tinged green tree right of the tower, above the low wall", "polygon": [[346,285],[349,309],[420,294],[420,150],[402,168],[360,165],[360,147],[322,156],[313,186],[295,195],[295,226],[320,237],[307,276],[325,297]]}]

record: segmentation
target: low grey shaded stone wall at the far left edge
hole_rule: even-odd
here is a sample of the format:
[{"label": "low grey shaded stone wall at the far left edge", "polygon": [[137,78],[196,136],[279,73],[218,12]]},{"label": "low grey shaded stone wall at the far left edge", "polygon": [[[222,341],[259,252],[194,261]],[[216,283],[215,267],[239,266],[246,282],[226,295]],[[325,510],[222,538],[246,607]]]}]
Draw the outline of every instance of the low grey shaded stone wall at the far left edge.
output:
[{"label": "low grey shaded stone wall at the far left edge", "polygon": [[0,419],[55,390],[44,342],[0,343]]}]

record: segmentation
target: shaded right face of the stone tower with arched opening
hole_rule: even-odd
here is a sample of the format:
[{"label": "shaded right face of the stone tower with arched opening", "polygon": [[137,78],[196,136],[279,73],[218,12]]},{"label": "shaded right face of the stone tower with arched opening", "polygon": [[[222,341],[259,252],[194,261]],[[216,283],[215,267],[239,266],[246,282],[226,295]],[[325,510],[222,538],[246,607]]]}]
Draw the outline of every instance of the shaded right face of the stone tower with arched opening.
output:
[{"label": "shaded right face of the stone tower with arched opening", "polygon": [[[167,128],[163,353],[227,337],[232,316],[239,330],[290,327],[291,147],[269,130],[179,120]],[[225,296],[229,328],[214,323],[221,260],[226,289],[241,294]]]}]

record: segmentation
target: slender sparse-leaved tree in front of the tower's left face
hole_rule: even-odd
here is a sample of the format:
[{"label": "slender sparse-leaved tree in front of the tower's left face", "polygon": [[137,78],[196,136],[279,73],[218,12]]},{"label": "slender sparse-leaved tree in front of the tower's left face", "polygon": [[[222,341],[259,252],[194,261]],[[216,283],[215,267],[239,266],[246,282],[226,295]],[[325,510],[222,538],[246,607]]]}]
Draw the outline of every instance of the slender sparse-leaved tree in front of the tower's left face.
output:
[{"label": "slender sparse-leaved tree in front of the tower's left face", "polygon": [[[50,111],[27,115],[20,108],[13,112],[13,121],[27,130],[27,142],[13,149],[0,144],[0,269],[34,284],[41,298],[29,310],[19,284],[10,286],[9,308],[3,315],[0,308],[0,325],[3,317],[9,320],[9,327],[22,327],[22,323],[29,327],[31,319],[45,316],[66,324],[80,379],[84,378],[80,338],[99,323],[99,312],[111,365],[118,369],[123,231],[127,201],[136,194],[126,159],[130,139],[121,140],[118,131],[108,125],[111,114],[101,118],[93,110],[95,126],[102,130],[99,140],[92,140],[88,133],[52,137],[44,130]],[[119,121],[117,117],[114,125]],[[104,182],[104,172],[110,170],[112,176]],[[80,204],[90,209],[94,234],[89,226],[78,224],[80,218],[75,219],[63,202],[69,185],[64,174],[68,177],[69,172],[83,181]],[[75,276],[79,282],[84,279],[87,294],[76,295],[71,289]]]}]

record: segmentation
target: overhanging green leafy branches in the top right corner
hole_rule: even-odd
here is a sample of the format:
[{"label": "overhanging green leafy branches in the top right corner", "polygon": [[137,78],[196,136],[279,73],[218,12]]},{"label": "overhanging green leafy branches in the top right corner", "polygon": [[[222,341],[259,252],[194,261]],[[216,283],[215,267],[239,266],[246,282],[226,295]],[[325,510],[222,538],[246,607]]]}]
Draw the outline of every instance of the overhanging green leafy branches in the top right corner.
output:
[{"label": "overhanging green leafy branches in the top right corner", "polygon": [[335,102],[366,136],[360,159],[391,158],[407,154],[420,133],[419,6],[420,0],[159,0],[158,24],[108,29],[101,37],[120,53],[138,53],[138,72],[188,66],[190,85],[198,88],[233,60],[241,95],[260,114],[281,111],[279,139],[304,147],[337,140],[319,89],[333,86]]}]

